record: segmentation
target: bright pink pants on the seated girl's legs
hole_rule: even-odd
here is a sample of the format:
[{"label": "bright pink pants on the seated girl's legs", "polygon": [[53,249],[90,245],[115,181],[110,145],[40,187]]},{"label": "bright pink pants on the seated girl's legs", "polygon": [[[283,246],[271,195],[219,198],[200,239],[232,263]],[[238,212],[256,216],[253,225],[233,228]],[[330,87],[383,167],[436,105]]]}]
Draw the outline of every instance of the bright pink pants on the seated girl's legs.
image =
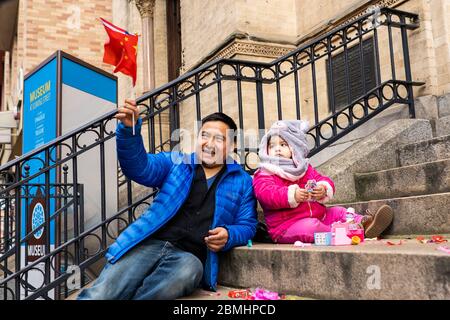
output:
[{"label": "bright pink pants on the seated girl's legs", "polygon": [[[278,243],[294,243],[299,240],[305,243],[314,242],[314,232],[330,232],[333,222],[345,222],[347,209],[344,207],[327,208],[326,216],[323,220],[317,218],[303,218],[292,223],[284,233],[278,238]],[[355,222],[360,222],[362,216],[354,214]]]}]

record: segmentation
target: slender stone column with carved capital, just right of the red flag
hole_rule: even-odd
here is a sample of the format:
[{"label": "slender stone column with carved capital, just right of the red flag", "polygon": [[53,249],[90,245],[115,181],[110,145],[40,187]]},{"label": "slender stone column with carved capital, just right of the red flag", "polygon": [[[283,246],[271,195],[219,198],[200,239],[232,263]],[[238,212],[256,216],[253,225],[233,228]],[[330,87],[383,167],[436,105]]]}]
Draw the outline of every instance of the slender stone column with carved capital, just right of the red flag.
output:
[{"label": "slender stone column with carved capital, just right of the red flag", "polygon": [[153,12],[155,0],[135,0],[142,18],[142,53],[144,57],[144,88],[149,91],[155,88],[155,44],[153,36]]}]

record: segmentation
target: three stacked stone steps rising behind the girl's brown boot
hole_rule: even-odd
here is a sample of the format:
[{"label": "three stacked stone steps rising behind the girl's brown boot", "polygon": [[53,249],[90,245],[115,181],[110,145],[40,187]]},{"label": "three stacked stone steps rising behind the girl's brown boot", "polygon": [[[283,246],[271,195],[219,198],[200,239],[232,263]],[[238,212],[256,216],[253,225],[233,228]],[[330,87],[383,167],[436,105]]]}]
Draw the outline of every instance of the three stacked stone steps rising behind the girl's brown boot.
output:
[{"label": "three stacked stone steps rising behind the girl's brown boot", "polygon": [[[449,131],[450,133],[450,131]],[[400,166],[355,175],[356,210],[387,203],[395,220],[387,234],[450,232],[450,135],[405,145]]]}]

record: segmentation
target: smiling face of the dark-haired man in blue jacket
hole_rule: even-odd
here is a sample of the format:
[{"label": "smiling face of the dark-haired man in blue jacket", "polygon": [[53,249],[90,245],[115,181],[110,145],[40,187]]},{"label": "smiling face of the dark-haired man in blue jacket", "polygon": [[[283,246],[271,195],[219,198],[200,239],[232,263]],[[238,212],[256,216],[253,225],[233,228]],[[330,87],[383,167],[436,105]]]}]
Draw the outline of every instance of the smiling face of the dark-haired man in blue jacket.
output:
[{"label": "smiling face of the dark-haired man in blue jacket", "polygon": [[229,130],[222,121],[209,121],[202,126],[197,137],[196,153],[204,167],[214,168],[225,164],[228,152],[233,147]]}]

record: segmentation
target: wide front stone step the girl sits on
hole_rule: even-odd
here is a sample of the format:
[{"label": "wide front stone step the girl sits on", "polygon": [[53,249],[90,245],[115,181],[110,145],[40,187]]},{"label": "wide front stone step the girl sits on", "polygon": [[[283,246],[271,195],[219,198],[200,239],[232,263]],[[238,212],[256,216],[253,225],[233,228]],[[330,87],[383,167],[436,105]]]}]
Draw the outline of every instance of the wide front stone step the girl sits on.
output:
[{"label": "wide front stone step the girl sits on", "polygon": [[450,299],[450,255],[438,246],[415,240],[304,248],[256,243],[224,253],[219,283],[316,299]]}]

